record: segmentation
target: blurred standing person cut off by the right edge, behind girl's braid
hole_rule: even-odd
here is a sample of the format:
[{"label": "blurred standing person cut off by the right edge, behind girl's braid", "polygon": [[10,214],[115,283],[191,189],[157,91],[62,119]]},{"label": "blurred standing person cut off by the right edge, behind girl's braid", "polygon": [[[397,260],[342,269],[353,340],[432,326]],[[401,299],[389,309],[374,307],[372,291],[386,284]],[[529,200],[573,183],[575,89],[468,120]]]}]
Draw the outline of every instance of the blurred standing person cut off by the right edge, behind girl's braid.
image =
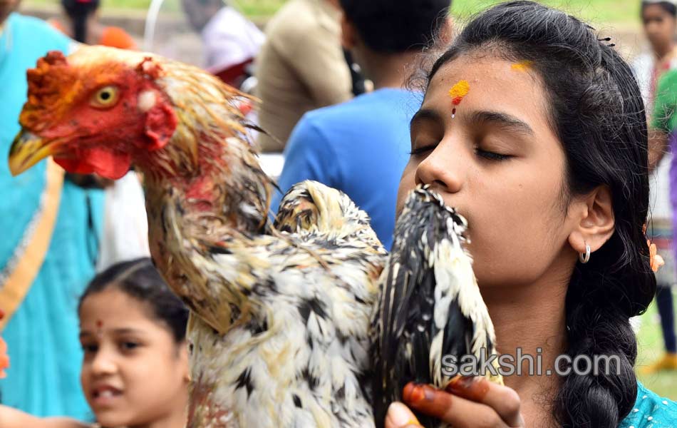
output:
[{"label": "blurred standing person cut off by the right edge, behind girl's braid", "polygon": [[[649,168],[651,175],[651,223],[647,235],[666,260],[666,266],[656,272],[656,305],[661,316],[661,329],[666,354],[656,362],[641,367],[639,372],[651,374],[660,370],[677,370],[677,340],[675,335],[672,285],[675,280],[676,245],[673,231],[677,230],[677,168],[670,153],[677,141],[672,113],[677,86],[665,86],[664,77],[677,73],[677,1],[642,1],[641,19],[651,51],[639,55],[633,64],[639,87],[649,112]],[[668,78],[668,81],[670,79]],[[653,112],[653,113],[651,113]],[[669,146],[669,147],[668,147]],[[658,153],[660,152],[660,153]],[[667,153],[666,153],[667,152]]]}]

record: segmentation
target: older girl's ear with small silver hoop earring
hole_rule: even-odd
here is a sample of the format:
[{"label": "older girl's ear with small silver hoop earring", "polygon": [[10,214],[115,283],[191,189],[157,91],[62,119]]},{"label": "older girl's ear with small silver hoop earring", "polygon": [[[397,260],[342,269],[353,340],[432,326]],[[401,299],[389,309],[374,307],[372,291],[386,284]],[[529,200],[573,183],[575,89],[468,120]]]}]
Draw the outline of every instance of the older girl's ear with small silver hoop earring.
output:
[{"label": "older girl's ear with small silver hoop earring", "polygon": [[585,253],[586,245],[590,245],[590,252],[594,253],[614,234],[616,220],[613,202],[611,190],[606,185],[599,186],[574,202],[569,212],[577,217],[577,225],[569,234],[569,245],[578,253]]}]

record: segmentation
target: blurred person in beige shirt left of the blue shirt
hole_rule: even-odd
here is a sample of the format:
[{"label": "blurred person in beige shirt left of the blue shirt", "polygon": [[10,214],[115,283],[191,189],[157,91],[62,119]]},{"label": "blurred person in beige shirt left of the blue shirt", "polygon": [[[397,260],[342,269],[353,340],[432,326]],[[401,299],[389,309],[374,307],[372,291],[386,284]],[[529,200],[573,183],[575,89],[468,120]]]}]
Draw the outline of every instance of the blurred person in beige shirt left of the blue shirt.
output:
[{"label": "blurred person in beige shirt left of the blue shirt", "polygon": [[290,0],[266,26],[256,61],[261,98],[259,134],[264,152],[281,152],[307,111],[352,98],[352,79],[341,49],[338,0]]}]

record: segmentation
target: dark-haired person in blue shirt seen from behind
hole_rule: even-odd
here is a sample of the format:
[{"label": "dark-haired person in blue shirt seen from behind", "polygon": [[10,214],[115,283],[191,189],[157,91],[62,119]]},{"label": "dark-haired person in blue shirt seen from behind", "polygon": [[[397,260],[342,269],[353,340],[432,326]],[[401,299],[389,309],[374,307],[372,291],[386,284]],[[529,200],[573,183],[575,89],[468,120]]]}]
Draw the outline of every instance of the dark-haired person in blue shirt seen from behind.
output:
[{"label": "dark-haired person in blue shirt seen from behind", "polygon": [[[281,196],[302,180],[345,192],[371,217],[390,250],[397,188],[409,158],[409,121],[422,95],[403,88],[408,65],[446,34],[450,0],[341,0],[342,39],[374,91],[346,103],[306,113],[284,151]],[[406,23],[405,25],[403,23]]]}]

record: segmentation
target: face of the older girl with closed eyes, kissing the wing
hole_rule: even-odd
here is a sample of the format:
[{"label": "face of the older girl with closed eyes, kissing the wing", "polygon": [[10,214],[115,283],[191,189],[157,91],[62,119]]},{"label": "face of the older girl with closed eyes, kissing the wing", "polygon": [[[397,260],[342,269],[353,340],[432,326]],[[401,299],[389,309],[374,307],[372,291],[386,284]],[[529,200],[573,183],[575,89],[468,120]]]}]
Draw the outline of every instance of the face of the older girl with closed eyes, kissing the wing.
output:
[{"label": "face of the older girl with closed eyes, kissing the wing", "polygon": [[482,288],[533,283],[555,265],[566,279],[577,257],[567,244],[576,222],[565,206],[564,151],[536,76],[527,62],[460,56],[435,74],[411,122],[398,213],[421,183],[457,208]]}]

